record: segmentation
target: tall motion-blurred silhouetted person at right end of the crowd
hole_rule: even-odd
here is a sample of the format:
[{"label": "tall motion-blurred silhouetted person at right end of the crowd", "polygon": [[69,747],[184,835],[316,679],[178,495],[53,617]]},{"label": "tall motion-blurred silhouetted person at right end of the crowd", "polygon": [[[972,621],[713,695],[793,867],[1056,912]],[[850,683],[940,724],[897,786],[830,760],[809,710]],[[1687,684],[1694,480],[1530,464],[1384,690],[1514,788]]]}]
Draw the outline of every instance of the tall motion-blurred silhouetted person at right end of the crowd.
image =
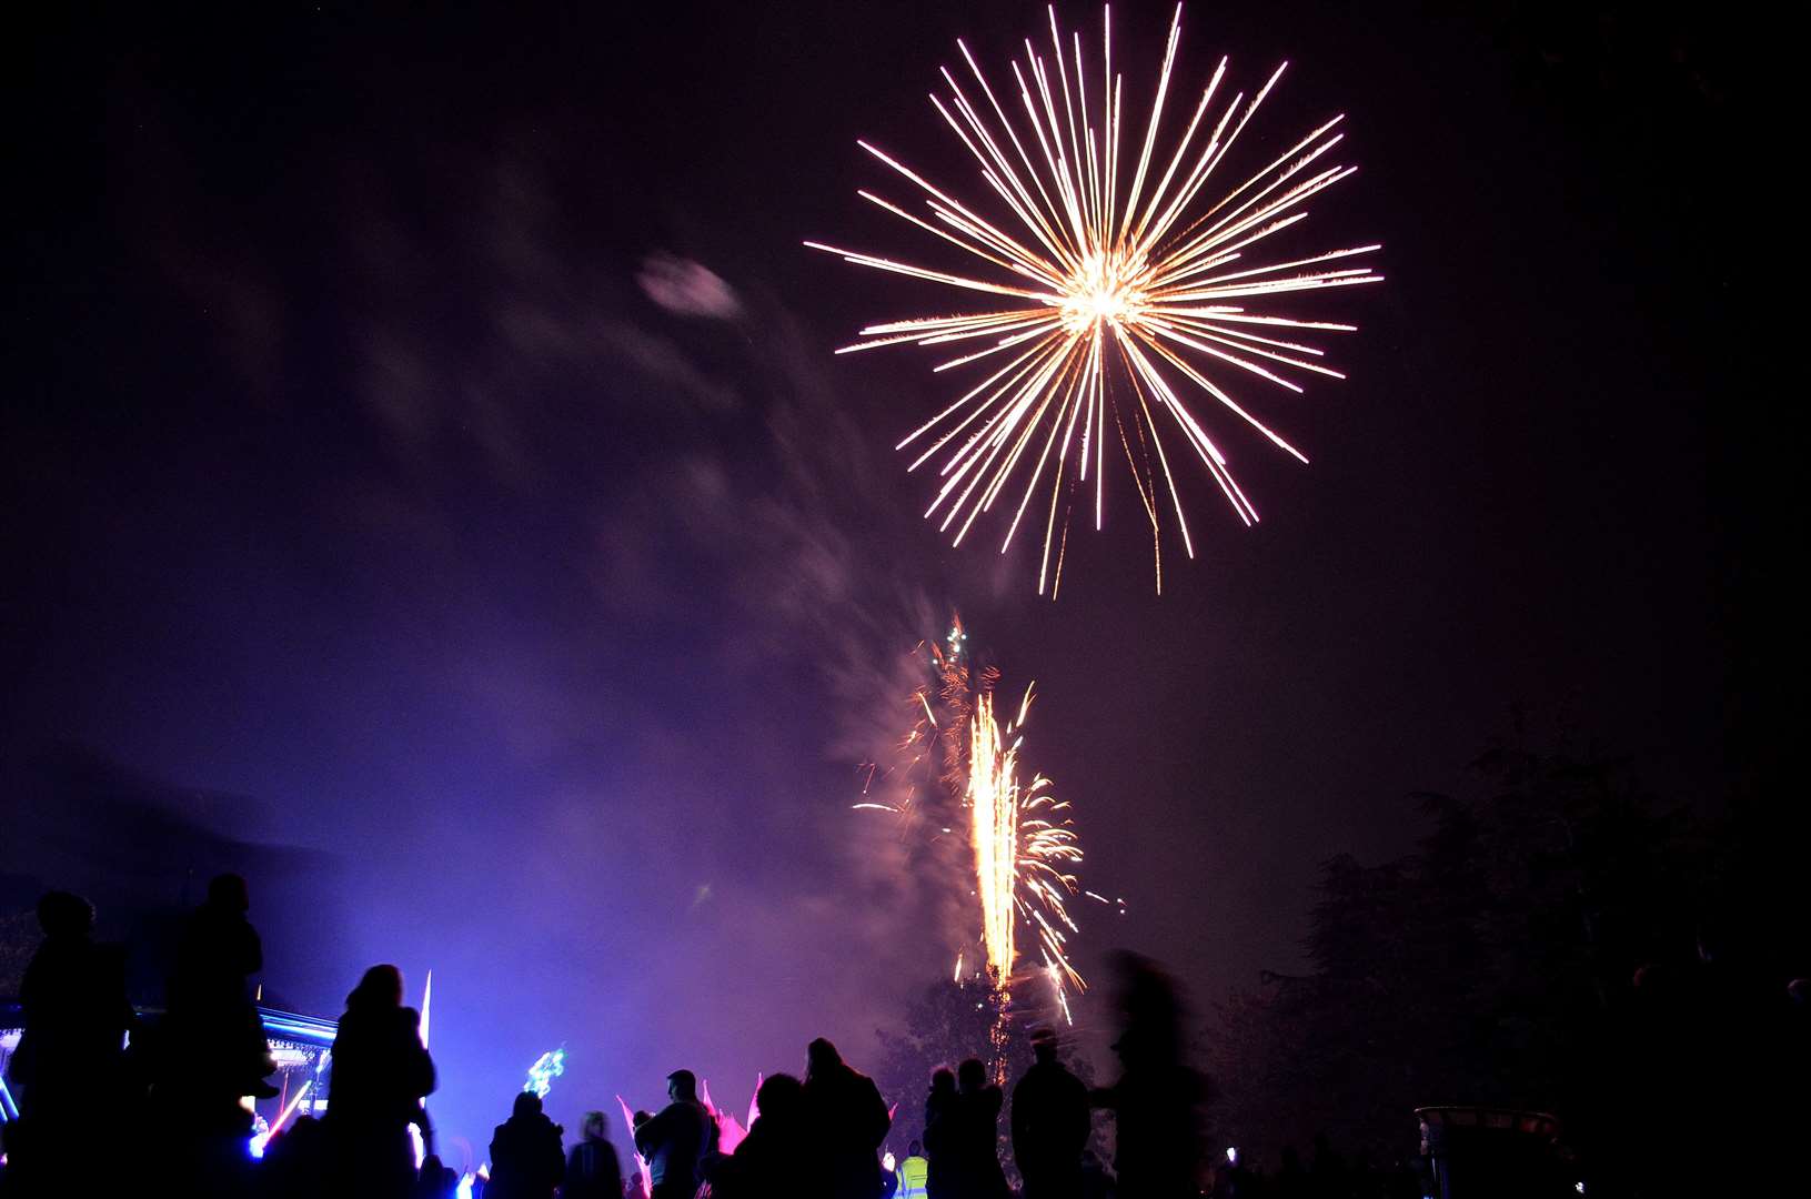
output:
[{"label": "tall motion-blurred silhouetted person at right end of the crowd", "polygon": [[1119,954],[1121,1074],[1096,1090],[1114,1112],[1119,1194],[1183,1199],[1199,1194],[1204,1083],[1183,1060],[1183,1012],[1170,980],[1145,958]]}]

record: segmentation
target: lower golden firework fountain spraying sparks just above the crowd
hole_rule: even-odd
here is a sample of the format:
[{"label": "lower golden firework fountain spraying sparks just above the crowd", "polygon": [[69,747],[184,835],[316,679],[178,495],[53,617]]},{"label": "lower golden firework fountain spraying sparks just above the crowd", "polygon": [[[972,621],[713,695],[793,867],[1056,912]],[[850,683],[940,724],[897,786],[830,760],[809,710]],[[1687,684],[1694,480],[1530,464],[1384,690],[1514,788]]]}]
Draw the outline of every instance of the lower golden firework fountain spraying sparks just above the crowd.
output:
[{"label": "lower golden firework fountain spraying sparks just above the crowd", "polygon": [[[1040,969],[1050,980],[1056,1005],[1068,1018],[1067,989],[1087,983],[1068,960],[1076,922],[1068,898],[1078,895],[1072,871],[1081,846],[1041,773],[1021,777],[1025,719],[1032,688],[1016,715],[996,715],[1000,672],[973,668],[967,632],[953,621],[942,647],[929,647],[933,679],[913,692],[915,723],[902,741],[898,802],[858,802],[904,820],[929,822],[938,833],[967,826],[973,886],[980,916],[983,973],[1005,993],[1020,964],[1020,931],[1036,942]],[[869,786],[871,786],[869,777]],[[1105,900],[1103,900],[1105,902]],[[956,954],[954,980],[963,978]]]}]

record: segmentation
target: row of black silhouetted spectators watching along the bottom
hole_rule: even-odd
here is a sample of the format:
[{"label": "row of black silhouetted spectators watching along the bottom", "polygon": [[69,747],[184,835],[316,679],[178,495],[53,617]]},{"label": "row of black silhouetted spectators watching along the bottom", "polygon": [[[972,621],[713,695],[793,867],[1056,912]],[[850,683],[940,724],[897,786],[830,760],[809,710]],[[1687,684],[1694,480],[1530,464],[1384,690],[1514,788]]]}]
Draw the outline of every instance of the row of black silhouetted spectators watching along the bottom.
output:
[{"label": "row of black silhouetted spectators watching along the bottom", "polygon": [[[270,1137],[261,1161],[248,1141],[246,1098],[273,1098],[277,1063],[248,980],[263,947],[248,920],[244,878],[221,875],[183,927],[167,976],[163,1020],[141,1020],[127,998],[123,953],[94,940],[94,909],[53,891],[22,983],[24,1034],[7,1063],[20,1117],[4,1125],[0,1197],[112,1194],[132,1186],[134,1148],[156,1146],[168,1194],[205,1199],[1011,1199],[1000,1137],[1005,1092],[980,1058],[931,1074],[922,1141],[902,1161],[882,1157],[896,1107],[837,1047],[813,1040],[804,1074],[771,1074],[757,1116],[728,1152],[692,1070],[666,1076],[668,1103],[636,1112],[636,1168],[625,1170],[603,1112],[587,1112],[567,1152],[565,1130],[531,1090],[496,1127],[485,1170],[460,1175],[435,1152],[427,1098],[433,1058],[420,1012],[404,1003],[395,965],[373,965],[346,996],[331,1047],[326,1112],[301,1114]],[[1119,1121],[1121,1179],[1199,1194],[1193,1181],[1190,1074],[1179,1050],[1168,983],[1126,962],[1125,1072],[1088,1090],[1059,1060],[1054,1032],[1032,1038],[1032,1061],[1012,1089],[1011,1154],[1025,1199],[1101,1199],[1108,1175],[1088,1152],[1090,1112]],[[96,1096],[118,1099],[123,1132],[98,1156]],[[1172,1110],[1186,1108],[1186,1110]],[[134,1139],[134,1137],[143,1137]],[[125,1152],[121,1152],[125,1150]],[[1188,1179],[1186,1185],[1183,1179]],[[1170,1186],[1170,1190],[1163,1190]]]}]

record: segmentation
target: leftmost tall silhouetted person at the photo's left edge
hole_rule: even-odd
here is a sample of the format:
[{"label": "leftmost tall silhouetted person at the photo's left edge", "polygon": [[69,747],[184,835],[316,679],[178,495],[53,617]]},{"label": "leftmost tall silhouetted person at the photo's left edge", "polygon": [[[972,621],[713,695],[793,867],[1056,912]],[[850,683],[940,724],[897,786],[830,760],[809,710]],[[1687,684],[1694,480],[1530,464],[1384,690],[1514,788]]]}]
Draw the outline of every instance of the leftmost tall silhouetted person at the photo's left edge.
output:
[{"label": "leftmost tall silhouetted person at the photo's left edge", "polygon": [[[7,1148],[20,1190],[63,1192],[71,1179],[105,1183],[89,1152],[96,1103],[121,1103],[127,1087],[125,1032],[136,1025],[125,996],[125,958],[96,945],[94,909],[80,895],[38,900],[43,944],[25,967],[20,1003],[25,1029],[7,1063],[20,1085],[20,1127]],[[136,1112],[132,1112],[136,1117]]]}]

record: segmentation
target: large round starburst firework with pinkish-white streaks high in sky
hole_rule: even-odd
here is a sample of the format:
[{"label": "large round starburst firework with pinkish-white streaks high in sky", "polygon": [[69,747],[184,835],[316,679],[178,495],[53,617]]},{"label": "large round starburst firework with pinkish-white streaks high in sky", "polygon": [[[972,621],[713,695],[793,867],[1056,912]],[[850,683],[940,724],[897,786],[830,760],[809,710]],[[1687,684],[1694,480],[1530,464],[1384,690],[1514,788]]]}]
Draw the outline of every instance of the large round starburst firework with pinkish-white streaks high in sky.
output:
[{"label": "large round starburst firework with pinkish-white streaks high in sky", "polygon": [[[1152,529],[1157,589],[1163,590],[1163,509],[1190,558],[1195,554],[1166,440],[1181,436],[1246,523],[1257,509],[1233,480],[1219,444],[1184,402],[1212,397],[1226,413],[1257,429],[1279,449],[1306,455],[1233,397],[1224,373],[1250,375],[1302,391],[1306,375],[1344,379],[1304,335],[1355,331],[1356,326],[1309,321],[1273,310],[1273,297],[1376,283],[1353,259],[1378,250],[1351,246],[1309,255],[1268,254],[1268,239],[1308,216],[1309,197],[1355,167],[1324,161],[1344,139],[1335,116],[1230,188],[1224,163],[1270,96],[1284,67],[1250,100],[1222,98],[1226,60],[1208,80],[1181,138],[1159,154],[1183,9],[1170,24],[1150,121],[1135,154],[1125,154],[1121,129],[1125,80],[1112,67],[1112,14],[1103,9],[1103,65],[1088,67],[1081,34],[1065,47],[1050,11],[1050,56],[1030,40],[1012,80],[1023,112],[1009,116],[969,47],[956,42],[976,92],[944,69],[949,96],[931,96],[944,121],[982,167],[982,177],[1011,212],[991,221],[884,150],[864,150],[922,192],[931,219],[873,192],[860,192],[889,214],[963,250],[978,263],[958,273],[875,254],[808,241],[815,250],[913,279],[996,297],[980,312],[909,317],[869,324],[860,341],[837,353],[916,344],[956,348],[934,369],[983,364],[987,375],[934,415],[898,449],[922,446],[909,469],[938,458],[942,484],[927,518],[954,543],[976,516],[1014,489],[1018,504],[1000,551],[1012,543],[1041,487],[1043,556],[1038,592],[1056,596],[1063,574],[1068,514],[1078,491],[1094,491],[1094,527],[1105,522],[1108,440],[1117,440],[1132,469]],[[1284,63],[1288,65],[1288,63]],[[1090,80],[1099,80],[1090,100]],[[1011,101],[1011,98],[1009,98]],[[1135,136],[1135,134],[1134,134]],[[1130,174],[1130,181],[1126,181]],[[1253,263],[1253,259],[1259,259]],[[1271,259],[1271,261],[1262,261]],[[976,270],[980,266],[980,270]],[[1291,379],[1291,375],[1295,379]],[[1011,500],[1009,500],[1011,504]],[[1056,558],[1052,563],[1052,547]]]}]

